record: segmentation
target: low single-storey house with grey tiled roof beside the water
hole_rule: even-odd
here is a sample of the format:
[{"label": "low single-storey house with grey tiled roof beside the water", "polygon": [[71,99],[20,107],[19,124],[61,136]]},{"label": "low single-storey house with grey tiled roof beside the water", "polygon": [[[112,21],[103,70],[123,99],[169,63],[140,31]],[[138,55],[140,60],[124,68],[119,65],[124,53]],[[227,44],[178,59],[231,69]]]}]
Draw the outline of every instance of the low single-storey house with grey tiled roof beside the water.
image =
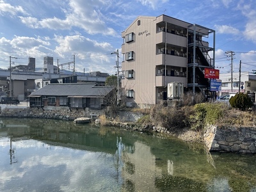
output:
[{"label": "low single-storey house with grey tiled roof beside the water", "polygon": [[114,90],[96,83],[51,83],[29,95],[29,106],[102,109],[115,100]]}]

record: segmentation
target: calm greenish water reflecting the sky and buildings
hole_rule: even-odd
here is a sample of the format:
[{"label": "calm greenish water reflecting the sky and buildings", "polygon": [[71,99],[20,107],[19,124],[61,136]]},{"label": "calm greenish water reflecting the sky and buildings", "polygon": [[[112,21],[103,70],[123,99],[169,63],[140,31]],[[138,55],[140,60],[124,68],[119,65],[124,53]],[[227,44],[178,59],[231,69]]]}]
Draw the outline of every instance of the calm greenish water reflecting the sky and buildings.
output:
[{"label": "calm greenish water reflecting the sky and buildings", "polygon": [[256,191],[252,155],[60,120],[0,123],[0,191]]}]

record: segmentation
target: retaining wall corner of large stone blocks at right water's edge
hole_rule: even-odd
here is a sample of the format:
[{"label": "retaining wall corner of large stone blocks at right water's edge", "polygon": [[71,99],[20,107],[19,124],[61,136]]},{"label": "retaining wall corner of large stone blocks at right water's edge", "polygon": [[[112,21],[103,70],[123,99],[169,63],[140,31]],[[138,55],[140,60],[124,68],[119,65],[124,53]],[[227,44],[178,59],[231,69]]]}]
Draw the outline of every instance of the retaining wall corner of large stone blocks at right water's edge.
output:
[{"label": "retaining wall corner of large stone blocks at right water's edge", "polygon": [[256,153],[255,127],[208,126],[204,133],[205,145],[210,152]]}]

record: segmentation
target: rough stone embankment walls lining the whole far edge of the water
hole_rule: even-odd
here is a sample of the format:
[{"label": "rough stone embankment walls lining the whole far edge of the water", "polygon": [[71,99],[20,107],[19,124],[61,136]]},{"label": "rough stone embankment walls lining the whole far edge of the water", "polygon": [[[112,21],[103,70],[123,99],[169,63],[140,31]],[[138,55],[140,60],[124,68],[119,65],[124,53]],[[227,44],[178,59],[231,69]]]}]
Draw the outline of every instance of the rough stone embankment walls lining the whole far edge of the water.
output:
[{"label": "rough stone embankment walls lining the whole far edge of the water", "polygon": [[[1,117],[49,118],[56,120],[74,121],[79,117],[95,119],[106,111],[99,109],[70,109],[67,107],[29,108],[26,106],[4,106]],[[110,121],[109,125],[133,131],[161,132],[175,136],[184,141],[202,141],[202,136],[195,131],[181,130],[173,132],[159,126],[142,126],[135,124],[143,114],[119,111],[118,122]],[[239,152],[256,154],[256,128],[255,127],[217,127],[208,126],[204,133],[204,143],[210,152]]]}]

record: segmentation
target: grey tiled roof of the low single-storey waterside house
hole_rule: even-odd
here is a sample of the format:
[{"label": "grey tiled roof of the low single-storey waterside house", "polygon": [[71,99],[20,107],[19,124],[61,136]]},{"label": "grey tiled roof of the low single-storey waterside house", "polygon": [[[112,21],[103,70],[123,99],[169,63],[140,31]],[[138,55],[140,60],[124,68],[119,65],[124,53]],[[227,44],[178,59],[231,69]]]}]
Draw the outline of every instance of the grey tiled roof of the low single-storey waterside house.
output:
[{"label": "grey tiled roof of the low single-storey waterside house", "polygon": [[113,86],[96,86],[95,83],[52,83],[31,93],[31,96],[104,97],[113,89]]}]

